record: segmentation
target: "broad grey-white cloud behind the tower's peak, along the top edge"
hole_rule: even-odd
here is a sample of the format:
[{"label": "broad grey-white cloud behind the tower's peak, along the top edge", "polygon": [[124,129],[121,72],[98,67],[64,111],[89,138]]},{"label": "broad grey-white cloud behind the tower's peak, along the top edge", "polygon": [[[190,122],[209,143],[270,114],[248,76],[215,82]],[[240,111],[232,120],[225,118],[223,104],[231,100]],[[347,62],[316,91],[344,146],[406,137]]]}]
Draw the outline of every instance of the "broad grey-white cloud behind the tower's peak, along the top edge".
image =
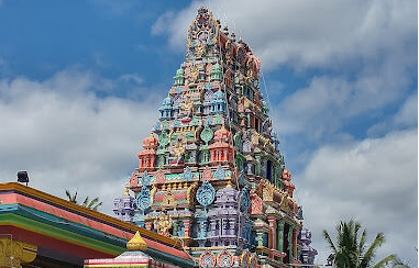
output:
[{"label": "broad grey-white cloud behind the tower's peak, along the top edge", "polygon": [[[152,29],[184,51],[186,30],[200,4],[230,26],[268,68],[334,66],[354,57],[375,58],[389,51],[416,49],[415,0],[211,0],[164,13]],[[340,66],[342,67],[342,66]]]}]

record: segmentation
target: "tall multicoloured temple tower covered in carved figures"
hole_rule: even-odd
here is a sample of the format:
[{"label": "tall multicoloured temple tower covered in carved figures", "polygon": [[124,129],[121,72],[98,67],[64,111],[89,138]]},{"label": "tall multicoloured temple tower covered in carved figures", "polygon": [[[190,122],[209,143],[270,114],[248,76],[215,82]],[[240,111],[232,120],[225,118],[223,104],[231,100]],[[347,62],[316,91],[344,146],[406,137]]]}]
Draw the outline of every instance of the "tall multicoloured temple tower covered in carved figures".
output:
[{"label": "tall multicoloured temple tower covered in carved figures", "polygon": [[[302,211],[260,91],[261,63],[207,8],[137,153],[118,217],[181,239],[200,267],[301,264]],[[307,258],[305,258],[307,259]]]}]

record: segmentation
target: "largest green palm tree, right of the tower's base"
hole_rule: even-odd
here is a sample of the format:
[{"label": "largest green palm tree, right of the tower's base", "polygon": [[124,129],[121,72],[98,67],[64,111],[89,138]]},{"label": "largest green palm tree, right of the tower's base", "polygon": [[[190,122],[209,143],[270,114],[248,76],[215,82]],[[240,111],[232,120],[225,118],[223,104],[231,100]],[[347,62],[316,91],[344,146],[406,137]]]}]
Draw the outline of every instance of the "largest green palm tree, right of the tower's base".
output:
[{"label": "largest green palm tree, right of the tower's base", "polygon": [[393,260],[396,256],[389,255],[373,265],[375,254],[378,247],[384,243],[384,234],[378,233],[366,246],[366,230],[359,237],[361,224],[353,220],[349,222],[340,222],[337,226],[337,243],[333,243],[329,233],[323,230],[323,236],[329,247],[332,249],[334,258],[333,266],[338,268],[379,268]]}]

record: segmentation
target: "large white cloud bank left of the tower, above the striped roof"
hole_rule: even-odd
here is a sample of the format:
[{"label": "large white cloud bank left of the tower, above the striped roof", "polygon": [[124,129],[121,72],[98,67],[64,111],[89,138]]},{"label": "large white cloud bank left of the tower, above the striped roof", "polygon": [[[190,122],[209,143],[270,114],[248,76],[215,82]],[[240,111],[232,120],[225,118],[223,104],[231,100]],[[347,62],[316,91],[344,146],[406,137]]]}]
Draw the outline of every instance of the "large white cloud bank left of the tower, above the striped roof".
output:
[{"label": "large white cloud bank left of the tower, above the striped roof", "polygon": [[16,171],[27,170],[31,187],[59,197],[77,189],[80,201],[99,197],[101,211],[113,214],[112,200],[137,165],[135,154],[157,120],[161,99],[93,93],[118,87],[121,79],[64,70],[43,81],[0,80],[0,181],[14,181]]}]

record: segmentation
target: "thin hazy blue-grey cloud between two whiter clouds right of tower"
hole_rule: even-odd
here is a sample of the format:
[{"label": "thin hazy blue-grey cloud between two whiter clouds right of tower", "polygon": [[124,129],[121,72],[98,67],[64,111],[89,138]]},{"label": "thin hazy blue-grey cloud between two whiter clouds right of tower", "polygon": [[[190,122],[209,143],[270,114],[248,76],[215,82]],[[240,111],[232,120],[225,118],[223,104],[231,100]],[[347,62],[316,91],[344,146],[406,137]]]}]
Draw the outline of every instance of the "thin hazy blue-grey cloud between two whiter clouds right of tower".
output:
[{"label": "thin hazy blue-grey cloud between two whiter clouds right of tower", "polygon": [[[308,87],[297,89],[273,107],[278,134],[302,134],[309,141],[327,141],[339,135],[351,120],[381,120],[379,111],[392,103],[400,105],[409,92],[409,74],[388,68],[394,60],[387,58],[375,71],[363,70],[354,78],[339,75],[312,78]],[[415,112],[414,99],[404,112],[409,114],[397,115],[398,120],[407,120],[405,118]],[[393,126],[401,126],[401,123]]]}]

